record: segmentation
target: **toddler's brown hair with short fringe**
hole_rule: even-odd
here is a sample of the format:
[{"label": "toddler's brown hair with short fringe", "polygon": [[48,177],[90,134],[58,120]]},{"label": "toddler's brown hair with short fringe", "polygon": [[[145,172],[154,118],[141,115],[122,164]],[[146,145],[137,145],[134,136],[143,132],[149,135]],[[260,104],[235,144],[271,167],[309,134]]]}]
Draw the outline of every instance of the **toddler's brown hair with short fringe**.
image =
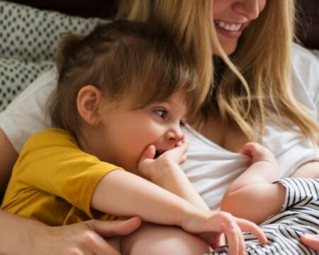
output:
[{"label": "toddler's brown hair with short fringe", "polygon": [[103,23],[86,36],[67,34],[58,48],[57,91],[51,118],[57,128],[79,135],[77,94],[94,85],[111,106],[131,102],[131,109],[165,101],[184,91],[191,111],[200,107],[192,63],[162,30],[136,21]]}]

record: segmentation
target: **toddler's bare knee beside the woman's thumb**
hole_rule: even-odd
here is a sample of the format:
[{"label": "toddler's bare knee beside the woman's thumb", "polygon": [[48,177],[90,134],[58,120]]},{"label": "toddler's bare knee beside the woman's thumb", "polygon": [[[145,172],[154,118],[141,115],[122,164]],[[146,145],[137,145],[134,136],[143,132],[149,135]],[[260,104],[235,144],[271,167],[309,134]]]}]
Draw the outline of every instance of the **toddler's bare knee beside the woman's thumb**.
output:
[{"label": "toddler's bare knee beside the woman's thumb", "polygon": [[145,223],[133,234],[121,239],[122,254],[205,254],[206,242],[179,227]]}]

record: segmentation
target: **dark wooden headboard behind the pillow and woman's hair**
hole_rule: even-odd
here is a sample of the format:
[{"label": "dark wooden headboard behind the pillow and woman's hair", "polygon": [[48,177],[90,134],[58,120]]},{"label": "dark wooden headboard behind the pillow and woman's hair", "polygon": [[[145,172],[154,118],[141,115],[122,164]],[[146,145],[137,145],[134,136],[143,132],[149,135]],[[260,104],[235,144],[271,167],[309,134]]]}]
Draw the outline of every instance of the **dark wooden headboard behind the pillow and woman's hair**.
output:
[{"label": "dark wooden headboard behind the pillow and woman's hair", "polygon": [[[13,0],[13,2],[82,17],[112,18],[118,8],[118,0]],[[306,47],[319,49],[319,0],[297,0],[297,8],[298,38]]]}]

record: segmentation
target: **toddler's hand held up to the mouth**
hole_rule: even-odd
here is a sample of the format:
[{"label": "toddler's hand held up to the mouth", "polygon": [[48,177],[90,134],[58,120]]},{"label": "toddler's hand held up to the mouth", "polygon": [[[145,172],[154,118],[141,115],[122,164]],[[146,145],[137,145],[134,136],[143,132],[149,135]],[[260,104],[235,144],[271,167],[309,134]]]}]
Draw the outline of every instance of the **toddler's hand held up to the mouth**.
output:
[{"label": "toddler's hand held up to the mouth", "polygon": [[169,174],[170,171],[176,171],[179,169],[179,164],[185,162],[188,145],[184,136],[177,147],[163,152],[158,157],[155,157],[157,154],[155,145],[150,145],[140,158],[138,171],[142,176],[156,183],[161,176]]}]

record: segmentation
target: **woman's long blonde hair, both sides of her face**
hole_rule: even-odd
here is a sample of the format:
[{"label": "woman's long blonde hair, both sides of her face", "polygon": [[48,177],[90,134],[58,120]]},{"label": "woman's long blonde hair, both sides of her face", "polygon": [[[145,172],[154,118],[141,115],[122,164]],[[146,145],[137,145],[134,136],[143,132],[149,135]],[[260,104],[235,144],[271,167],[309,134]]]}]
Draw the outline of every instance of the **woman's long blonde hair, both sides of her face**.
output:
[{"label": "woman's long blonde hair, both sides of her face", "polygon": [[[212,49],[223,59],[226,67],[213,86],[214,102],[206,104],[204,111],[213,107],[221,121],[235,122],[250,140],[256,133],[262,137],[266,118],[275,113],[315,141],[318,124],[291,89],[293,0],[268,0],[259,18],[241,36],[231,61],[217,40],[211,0],[122,0],[121,4],[118,17],[156,23],[176,38],[194,60],[203,98],[213,80]],[[281,125],[285,127],[284,122]]]}]

